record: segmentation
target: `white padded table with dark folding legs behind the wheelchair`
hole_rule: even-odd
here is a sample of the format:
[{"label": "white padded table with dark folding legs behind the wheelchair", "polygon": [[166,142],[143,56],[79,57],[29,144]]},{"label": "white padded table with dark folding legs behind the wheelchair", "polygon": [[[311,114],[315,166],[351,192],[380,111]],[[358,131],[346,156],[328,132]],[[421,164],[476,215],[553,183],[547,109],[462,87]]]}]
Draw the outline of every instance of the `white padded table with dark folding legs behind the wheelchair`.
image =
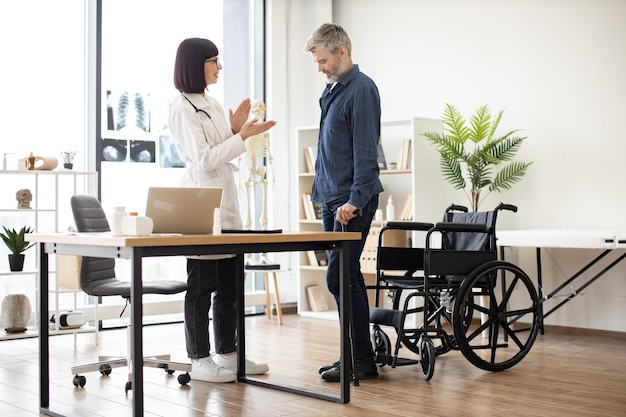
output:
[{"label": "white padded table with dark folding legs behind the wheelchair", "polygon": [[[500,256],[504,259],[504,247],[532,247],[537,253],[537,293],[541,297],[542,303],[539,306],[539,328],[543,334],[543,320],[564,304],[576,297],[582,290],[591,285],[615,265],[626,258],[623,253],[608,266],[604,267],[597,274],[589,278],[578,289],[574,290],[563,301],[558,303],[547,313],[543,311],[543,302],[554,298],[568,285],[579,280],[581,276],[591,267],[597,264],[602,258],[607,256],[614,249],[626,248],[626,233],[610,229],[528,229],[528,230],[503,230],[496,232],[497,243],[500,246]],[[602,252],[580,268],[575,274],[567,278],[563,284],[546,294],[543,290],[543,278],[541,272],[541,249],[542,248],[578,248],[578,249],[599,249]]]}]

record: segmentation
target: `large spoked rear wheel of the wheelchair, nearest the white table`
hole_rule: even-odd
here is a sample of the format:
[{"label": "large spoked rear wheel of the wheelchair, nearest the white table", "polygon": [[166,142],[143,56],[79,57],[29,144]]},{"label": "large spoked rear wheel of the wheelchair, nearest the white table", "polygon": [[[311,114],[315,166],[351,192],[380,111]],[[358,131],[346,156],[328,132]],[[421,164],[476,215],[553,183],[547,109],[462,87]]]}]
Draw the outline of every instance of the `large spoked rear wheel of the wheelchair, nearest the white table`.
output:
[{"label": "large spoked rear wheel of the wheelchair, nearest the white table", "polygon": [[514,366],[539,330],[539,299],[531,279],[508,262],[481,265],[461,284],[453,326],[459,349],[473,365],[486,371]]}]

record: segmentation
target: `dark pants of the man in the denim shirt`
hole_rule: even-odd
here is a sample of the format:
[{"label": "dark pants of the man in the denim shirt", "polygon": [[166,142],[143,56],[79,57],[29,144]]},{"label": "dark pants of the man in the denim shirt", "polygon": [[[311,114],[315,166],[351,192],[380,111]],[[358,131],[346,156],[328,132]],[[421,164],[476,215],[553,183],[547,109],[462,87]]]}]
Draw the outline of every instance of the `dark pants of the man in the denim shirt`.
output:
[{"label": "dark pants of the man in the denim shirt", "polygon": [[[336,201],[324,205],[323,219],[325,231],[342,231],[341,223],[335,221],[337,208],[346,201]],[[347,232],[361,232],[361,240],[350,241],[350,289],[352,295],[352,339],[354,343],[354,358],[359,362],[374,359],[374,351],[370,341],[369,330],[369,303],[365,280],[361,273],[361,253],[365,240],[369,234],[370,225],[378,208],[378,194],[361,209],[361,215],[350,220],[345,227]],[[331,251],[326,271],[328,290],[335,296],[339,307],[339,256],[338,252]]]}]

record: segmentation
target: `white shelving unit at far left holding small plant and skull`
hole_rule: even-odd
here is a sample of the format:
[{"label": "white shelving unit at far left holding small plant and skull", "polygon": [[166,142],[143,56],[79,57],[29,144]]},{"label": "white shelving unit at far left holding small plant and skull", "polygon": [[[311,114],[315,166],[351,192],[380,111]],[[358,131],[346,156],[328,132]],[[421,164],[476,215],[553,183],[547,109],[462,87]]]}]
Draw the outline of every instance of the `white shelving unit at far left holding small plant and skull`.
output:
[{"label": "white shelving unit at far left holding small plant and skull", "polygon": [[[72,227],[74,220],[70,208],[70,197],[77,193],[87,193],[88,190],[97,189],[97,173],[81,171],[0,171],[0,184],[3,190],[0,195],[0,225],[9,228],[21,228],[30,226],[40,232],[62,232]],[[18,202],[15,195],[18,190],[29,189],[33,199],[30,202],[30,209],[18,209]],[[0,245],[0,299],[11,292],[11,288],[19,288],[29,297],[30,304],[37,309],[39,287],[37,283],[37,261],[38,252],[35,247],[25,252],[26,262],[24,270],[12,272],[8,265],[8,249],[5,245]],[[55,259],[51,258],[51,270],[55,270]],[[30,281],[24,285],[18,279]],[[77,309],[80,304],[77,295],[82,293],[79,289],[66,289],[59,286],[56,273],[51,274],[50,305],[54,306],[55,317],[59,313],[68,309]],[[73,298],[69,303],[61,300],[61,297]],[[63,302],[68,304],[63,304]],[[65,308],[62,308],[65,307]],[[36,322],[39,312],[34,311],[33,325],[28,326],[25,333],[6,333],[0,329],[0,340],[16,339],[23,337],[36,337],[38,335],[38,325]],[[94,331],[93,327],[87,325],[77,329],[59,329],[58,321],[51,329],[50,334],[80,333]]]}]

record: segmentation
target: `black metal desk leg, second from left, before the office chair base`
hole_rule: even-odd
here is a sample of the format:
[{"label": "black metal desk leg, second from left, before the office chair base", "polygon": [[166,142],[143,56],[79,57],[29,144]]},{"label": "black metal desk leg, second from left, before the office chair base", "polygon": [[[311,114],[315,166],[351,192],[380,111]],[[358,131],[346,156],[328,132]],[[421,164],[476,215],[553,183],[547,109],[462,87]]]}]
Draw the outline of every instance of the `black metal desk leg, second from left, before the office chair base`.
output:
[{"label": "black metal desk leg, second from left, before the office chair base", "polygon": [[131,358],[132,358],[132,390],[133,416],[143,416],[143,284],[142,284],[142,249],[135,248],[130,259],[131,294],[130,294],[130,323]]}]

